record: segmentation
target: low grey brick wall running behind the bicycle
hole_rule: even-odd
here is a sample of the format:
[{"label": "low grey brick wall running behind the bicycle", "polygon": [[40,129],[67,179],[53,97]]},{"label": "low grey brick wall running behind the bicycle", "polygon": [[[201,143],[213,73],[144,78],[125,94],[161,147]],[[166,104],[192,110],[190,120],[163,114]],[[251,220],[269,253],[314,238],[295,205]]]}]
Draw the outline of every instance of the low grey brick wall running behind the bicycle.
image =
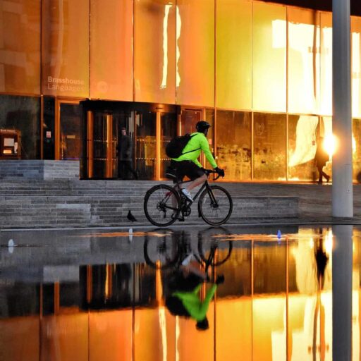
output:
[{"label": "low grey brick wall running behind the bicycle", "polygon": [[[0,181],[1,228],[128,226],[128,211],[137,225],[149,225],[143,199],[158,181],[80,181],[21,179]],[[243,195],[240,183],[219,183],[233,198],[229,223],[249,220],[297,219],[298,197]],[[204,224],[197,206],[185,224]]]}]

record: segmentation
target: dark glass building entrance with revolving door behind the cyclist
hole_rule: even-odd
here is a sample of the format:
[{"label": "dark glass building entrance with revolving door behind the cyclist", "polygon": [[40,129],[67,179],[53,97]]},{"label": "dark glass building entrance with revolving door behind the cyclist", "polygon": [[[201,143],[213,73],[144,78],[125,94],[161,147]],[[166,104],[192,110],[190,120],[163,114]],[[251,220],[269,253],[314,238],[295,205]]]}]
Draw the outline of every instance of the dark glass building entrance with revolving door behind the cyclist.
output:
[{"label": "dark glass building entrance with revolving door behind the cyclist", "polygon": [[166,143],[177,133],[176,106],[85,101],[82,178],[164,178]]}]

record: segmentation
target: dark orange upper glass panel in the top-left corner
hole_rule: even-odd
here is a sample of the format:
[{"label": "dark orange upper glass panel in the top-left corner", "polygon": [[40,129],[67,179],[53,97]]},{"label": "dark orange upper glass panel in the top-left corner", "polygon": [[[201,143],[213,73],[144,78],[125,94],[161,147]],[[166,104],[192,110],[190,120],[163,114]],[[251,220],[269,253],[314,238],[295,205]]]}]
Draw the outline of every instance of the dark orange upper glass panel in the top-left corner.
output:
[{"label": "dark orange upper glass panel in the top-left corner", "polygon": [[0,92],[40,93],[39,1],[0,1]]}]

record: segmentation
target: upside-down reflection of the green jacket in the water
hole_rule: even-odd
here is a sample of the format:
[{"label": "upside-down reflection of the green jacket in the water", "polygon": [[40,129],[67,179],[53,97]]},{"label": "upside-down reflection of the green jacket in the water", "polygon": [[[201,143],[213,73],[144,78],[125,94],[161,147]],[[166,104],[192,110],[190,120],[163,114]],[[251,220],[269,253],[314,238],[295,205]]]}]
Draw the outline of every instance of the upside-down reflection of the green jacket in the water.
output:
[{"label": "upside-down reflection of the green jacket in the water", "polygon": [[200,291],[202,284],[198,285],[192,292],[175,292],[173,296],[178,297],[188,311],[190,317],[196,321],[202,321],[207,315],[209,302],[211,302],[214,293],[216,292],[216,284],[213,284],[209,290],[207,290],[204,301],[202,302],[197,293]]}]

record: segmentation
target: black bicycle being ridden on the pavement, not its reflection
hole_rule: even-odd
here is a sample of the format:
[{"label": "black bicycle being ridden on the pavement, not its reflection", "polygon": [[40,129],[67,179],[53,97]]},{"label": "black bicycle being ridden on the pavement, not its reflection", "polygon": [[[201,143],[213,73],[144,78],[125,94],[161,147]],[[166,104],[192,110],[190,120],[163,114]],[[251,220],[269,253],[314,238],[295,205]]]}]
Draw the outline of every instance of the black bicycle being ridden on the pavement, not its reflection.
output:
[{"label": "black bicycle being ridden on the pavement, not its reflection", "polygon": [[[206,173],[209,176],[210,173],[216,172],[206,169]],[[219,176],[214,178],[214,181],[218,178]],[[207,224],[220,226],[228,221],[232,214],[233,202],[227,190],[219,185],[209,185],[208,181],[205,181],[191,202],[181,192],[181,185],[190,181],[180,182],[177,179],[175,181],[173,187],[159,184],[147,191],[144,198],[144,212],[150,223],[162,227],[170,226],[177,219],[184,221],[185,217],[190,215],[190,207],[198,196],[200,197],[198,216]]]}]

